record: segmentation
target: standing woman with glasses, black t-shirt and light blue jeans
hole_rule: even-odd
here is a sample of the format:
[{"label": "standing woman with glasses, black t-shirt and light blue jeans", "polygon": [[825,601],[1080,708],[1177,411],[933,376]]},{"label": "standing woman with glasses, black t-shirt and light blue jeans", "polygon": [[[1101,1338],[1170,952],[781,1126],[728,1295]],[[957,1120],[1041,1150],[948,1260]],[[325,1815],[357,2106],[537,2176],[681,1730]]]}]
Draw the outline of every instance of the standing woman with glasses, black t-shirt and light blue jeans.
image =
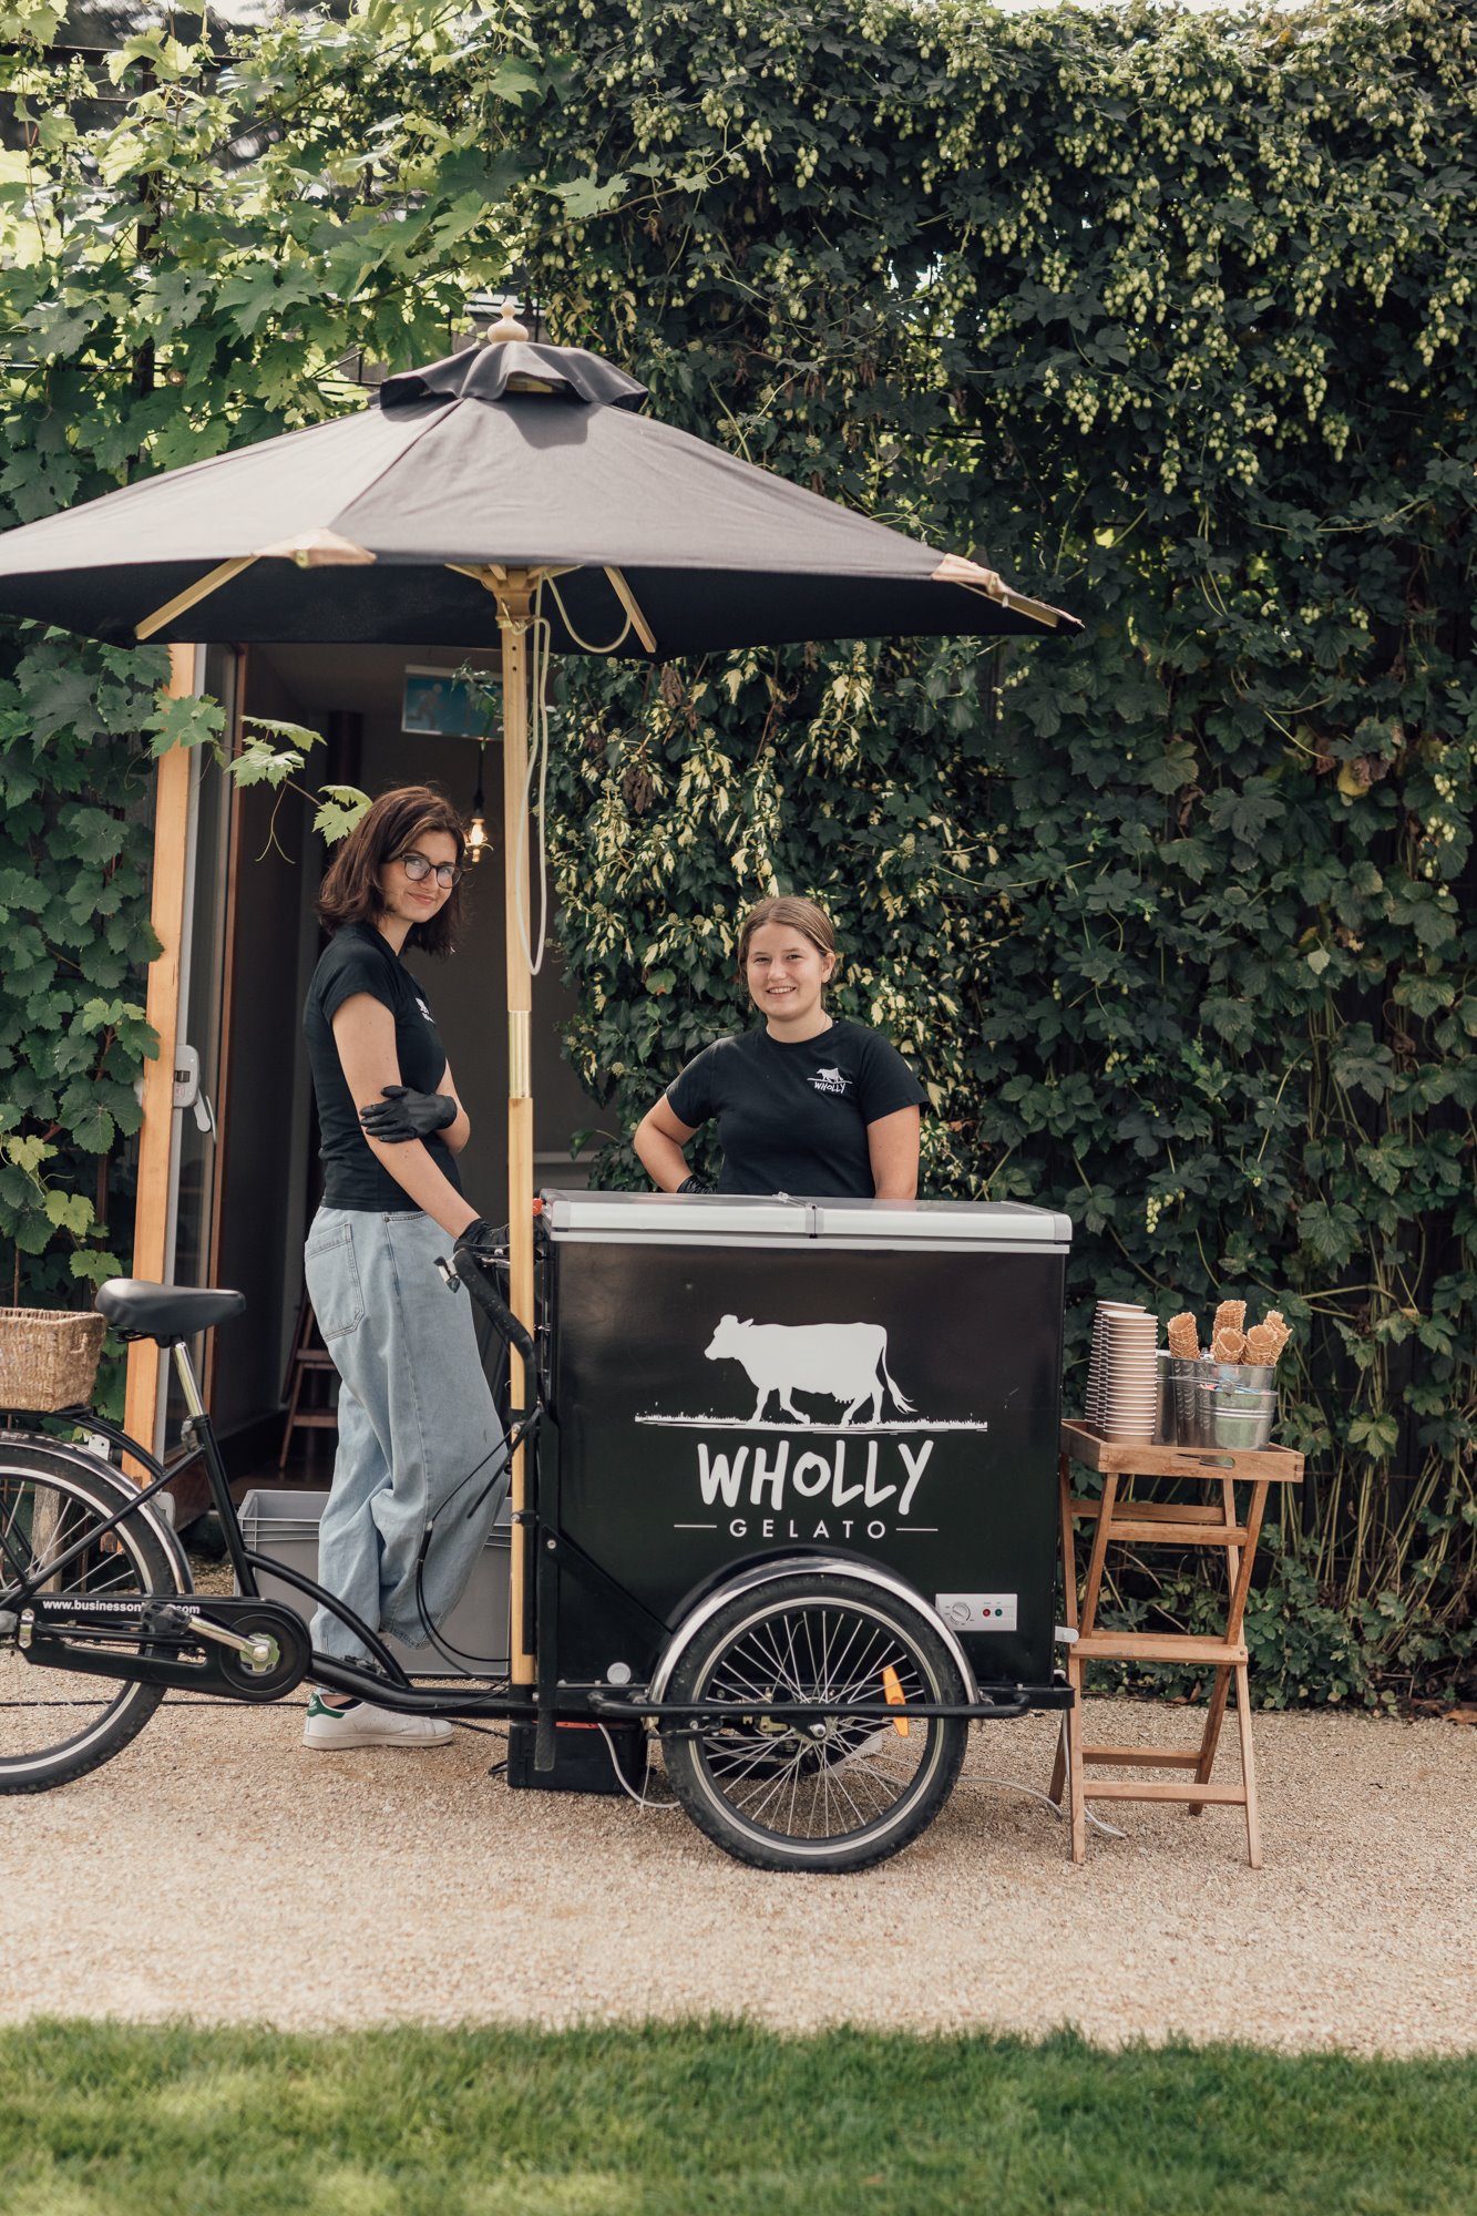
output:
[{"label": "standing woman with glasses, black t-shirt and light blue jeans", "polygon": [[[308,1230],[317,1327],[339,1372],[339,1451],[319,1525],[319,1584],[370,1631],[428,1642],[461,1596],[506,1494],[503,1436],[468,1301],[435,1268],[450,1241],[490,1239],[461,1192],[470,1137],[408,948],[448,955],[461,922],[461,820],[430,784],[381,793],[335,851],[317,913],[330,933],[304,1008],[324,1201]],[[426,1531],[461,1480],[461,1507]],[[419,1589],[417,1589],[419,1587]],[[424,1613],[421,1613],[424,1600]],[[313,1644],[368,1662],[319,1609]],[[315,1691],[315,1748],[444,1746],[450,1724]]]}]

